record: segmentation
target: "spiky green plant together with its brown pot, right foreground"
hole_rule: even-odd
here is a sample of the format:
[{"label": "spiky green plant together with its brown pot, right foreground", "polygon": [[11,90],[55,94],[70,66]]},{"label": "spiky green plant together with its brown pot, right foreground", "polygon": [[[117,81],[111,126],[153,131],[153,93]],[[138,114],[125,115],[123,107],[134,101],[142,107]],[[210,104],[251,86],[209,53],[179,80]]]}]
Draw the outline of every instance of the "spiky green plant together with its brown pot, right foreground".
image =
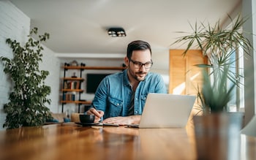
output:
[{"label": "spiky green plant together with its brown pot, right foreground", "polygon": [[[239,60],[233,53],[242,47],[249,55],[252,45],[241,33],[246,18],[238,16],[236,20],[230,18],[230,22],[232,25],[225,29],[220,21],[214,26],[195,23],[192,34],[178,37],[174,42],[187,44],[184,55],[191,47],[199,47],[208,57],[208,64],[197,65],[203,69],[203,86],[197,92],[203,115],[193,118],[198,159],[239,159],[235,153],[239,153],[242,115],[228,113],[227,104],[236,86],[242,85],[239,80],[242,75],[232,71],[233,64]],[[231,152],[225,153],[223,148]]]}]

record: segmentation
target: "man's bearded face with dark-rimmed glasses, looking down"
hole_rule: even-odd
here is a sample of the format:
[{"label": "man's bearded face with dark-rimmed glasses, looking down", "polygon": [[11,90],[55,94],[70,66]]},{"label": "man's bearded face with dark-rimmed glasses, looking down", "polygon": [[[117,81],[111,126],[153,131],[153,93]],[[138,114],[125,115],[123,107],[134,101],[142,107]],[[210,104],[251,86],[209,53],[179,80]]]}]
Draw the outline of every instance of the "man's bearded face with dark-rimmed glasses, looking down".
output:
[{"label": "man's bearded face with dark-rimmed glasses, looking down", "polygon": [[[150,50],[134,50],[132,52],[132,57],[130,60],[126,57],[125,62],[128,66],[129,80],[142,81],[145,80],[148,74],[149,68],[146,65],[138,64],[150,64],[151,63],[151,53]],[[138,63],[139,62],[139,63]],[[137,64],[137,65],[136,65]]]}]

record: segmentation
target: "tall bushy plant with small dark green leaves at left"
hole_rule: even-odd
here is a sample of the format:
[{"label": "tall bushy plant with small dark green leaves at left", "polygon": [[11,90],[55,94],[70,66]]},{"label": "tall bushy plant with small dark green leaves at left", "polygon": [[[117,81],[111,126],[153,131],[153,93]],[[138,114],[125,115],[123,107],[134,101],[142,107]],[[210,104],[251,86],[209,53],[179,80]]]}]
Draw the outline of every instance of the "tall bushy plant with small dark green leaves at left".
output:
[{"label": "tall bushy plant with small dark green leaves at left", "polygon": [[26,44],[22,47],[20,42],[7,39],[12,48],[13,58],[1,56],[4,63],[4,73],[10,76],[13,89],[10,93],[10,102],[4,104],[7,113],[4,127],[7,129],[20,126],[39,126],[50,119],[50,110],[45,106],[50,104],[47,96],[50,87],[45,85],[48,71],[39,70],[39,61],[42,61],[42,42],[49,39],[49,34],[39,35],[38,39],[32,38],[37,34],[37,28],[32,28]]}]

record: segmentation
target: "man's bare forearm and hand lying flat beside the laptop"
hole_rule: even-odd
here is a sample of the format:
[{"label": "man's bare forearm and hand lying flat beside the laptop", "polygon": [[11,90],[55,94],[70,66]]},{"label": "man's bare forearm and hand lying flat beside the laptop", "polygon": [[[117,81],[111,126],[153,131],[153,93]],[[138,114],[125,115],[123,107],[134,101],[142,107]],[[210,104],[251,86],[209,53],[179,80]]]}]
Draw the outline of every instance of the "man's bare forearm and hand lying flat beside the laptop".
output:
[{"label": "man's bare forearm and hand lying flat beside the laptop", "polygon": [[103,123],[114,123],[118,125],[127,125],[127,124],[136,124],[140,123],[140,117],[141,115],[130,115],[127,117],[111,117],[106,118]]}]

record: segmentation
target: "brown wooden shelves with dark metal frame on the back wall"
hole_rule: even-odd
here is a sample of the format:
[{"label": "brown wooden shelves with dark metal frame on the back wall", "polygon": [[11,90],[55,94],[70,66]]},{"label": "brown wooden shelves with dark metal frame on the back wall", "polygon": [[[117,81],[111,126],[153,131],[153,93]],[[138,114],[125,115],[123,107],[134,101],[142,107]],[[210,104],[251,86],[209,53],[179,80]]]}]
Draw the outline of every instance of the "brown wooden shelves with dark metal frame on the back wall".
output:
[{"label": "brown wooden shelves with dark metal frame on the back wall", "polygon": [[[64,77],[61,78],[63,85],[61,88],[62,92],[62,99],[61,99],[61,112],[63,113],[64,111],[64,104],[72,103],[72,104],[78,104],[78,113],[80,112],[80,105],[81,104],[91,104],[91,101],[84,101],[80,99],[80,95],[83,93],[83,89],[81,89],[81,83],[83,83],[83,78],[82,78],[82,72],[85,69],[91,69],[91,70],[124,70],[126,67],[123,66],[86,66],[85,64],[80,64],[76,66],[70,66],[69,64],[65,63],[63,66],[64,69]],[[68,70],[79,70],[80,72],[80,77],[66,77],[66,73]],[[68,85],[68,83],[72,82],[77,82],[75,86],[71,87]],[[78,84],[79,83],[79,84]],[[70,97],[67,98],[67,95],[71,93],[76,93],[78,94],[78,98],[75,99],[69,99]],[[75,94],[75,96],[76,96]]]}]

